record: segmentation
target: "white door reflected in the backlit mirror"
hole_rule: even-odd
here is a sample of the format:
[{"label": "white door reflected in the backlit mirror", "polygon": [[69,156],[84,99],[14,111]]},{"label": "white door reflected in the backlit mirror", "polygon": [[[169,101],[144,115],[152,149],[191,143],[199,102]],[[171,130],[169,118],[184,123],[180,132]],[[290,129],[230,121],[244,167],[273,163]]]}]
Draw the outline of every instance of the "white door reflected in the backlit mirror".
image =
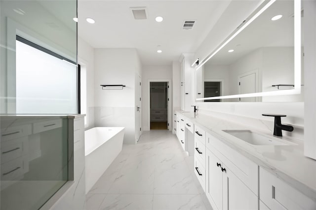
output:
[{"label": "white door reflected in the backlit mirror", "polygon": [[[256,72],[245,74],[239,76],[239,94],[246,94],[246,93],[254,93],[257,92],[257,79],[256,79]],[[255,102],[255,97],[248,97],[248,98],[239,98],[239,101],[243,102]]]}]

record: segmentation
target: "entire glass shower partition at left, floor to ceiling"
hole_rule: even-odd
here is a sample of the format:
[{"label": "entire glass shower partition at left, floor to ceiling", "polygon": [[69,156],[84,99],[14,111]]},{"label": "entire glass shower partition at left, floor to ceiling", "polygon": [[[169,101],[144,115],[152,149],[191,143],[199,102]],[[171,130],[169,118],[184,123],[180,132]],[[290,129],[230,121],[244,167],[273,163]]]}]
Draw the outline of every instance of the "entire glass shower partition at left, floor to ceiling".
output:
[{"label": "entire glass shower partition at left, floor to ceiling", "polygon": [[1,210],[40,209],[72,179],[76,17],[77,0],[0,0]]}]

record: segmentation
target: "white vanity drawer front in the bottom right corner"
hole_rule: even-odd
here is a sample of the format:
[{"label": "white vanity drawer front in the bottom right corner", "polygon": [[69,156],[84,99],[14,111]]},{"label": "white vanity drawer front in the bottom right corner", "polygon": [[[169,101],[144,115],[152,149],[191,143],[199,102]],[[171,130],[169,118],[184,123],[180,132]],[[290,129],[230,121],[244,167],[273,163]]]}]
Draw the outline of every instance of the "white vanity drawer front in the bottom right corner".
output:
[{"label": "white vanity drawer front in the bottom right corner", "polygon": [[315,210],[316,201],[260,168],[260,200],[270,210]]}]

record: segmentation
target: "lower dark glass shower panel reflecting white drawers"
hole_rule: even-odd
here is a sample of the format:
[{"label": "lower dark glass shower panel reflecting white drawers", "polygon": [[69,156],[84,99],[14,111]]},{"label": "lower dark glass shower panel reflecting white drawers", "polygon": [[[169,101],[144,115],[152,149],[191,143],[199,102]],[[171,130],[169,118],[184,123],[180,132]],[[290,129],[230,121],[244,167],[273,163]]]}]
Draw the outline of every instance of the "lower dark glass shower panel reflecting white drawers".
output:
[{"label": "lower dark glass shower panel reflecting white drawers", "polygon": [[68,119],[1,116],[0,128],[0,209],[40,209],[68,181]]}]

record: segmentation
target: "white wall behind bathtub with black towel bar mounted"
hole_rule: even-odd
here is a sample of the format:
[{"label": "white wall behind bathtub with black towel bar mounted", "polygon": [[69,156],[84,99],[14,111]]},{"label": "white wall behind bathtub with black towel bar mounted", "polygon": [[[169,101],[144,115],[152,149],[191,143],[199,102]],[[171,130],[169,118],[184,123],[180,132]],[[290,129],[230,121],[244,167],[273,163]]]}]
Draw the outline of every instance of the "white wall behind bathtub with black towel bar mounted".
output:
[{"label": "white wall behind bathtub with black towel bar mounted", "polygon": [[[95,126],[125,127],[124,144],[135,144],[135,78],[141,73],[136,49],[94,49]],[[125,85],[102,90],[100,85]]]}]

